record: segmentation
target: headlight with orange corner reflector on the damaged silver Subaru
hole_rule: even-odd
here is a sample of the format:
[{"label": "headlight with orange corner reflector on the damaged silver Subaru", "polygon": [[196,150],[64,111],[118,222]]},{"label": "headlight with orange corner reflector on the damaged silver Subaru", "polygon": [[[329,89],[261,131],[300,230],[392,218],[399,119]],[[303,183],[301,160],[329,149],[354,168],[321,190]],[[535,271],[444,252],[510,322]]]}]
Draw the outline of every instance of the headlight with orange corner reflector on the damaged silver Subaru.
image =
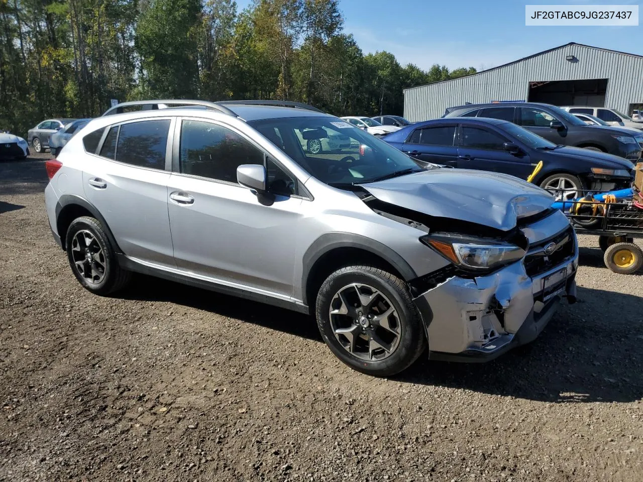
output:
[{"label": "headlight with orange corner reflector on the damaged silver Subaru", "polygon": [[420,240],[453,264],[467,270],[489,271],[525,256],[525,250],[519,246],[487,239],[428,235]]}]

